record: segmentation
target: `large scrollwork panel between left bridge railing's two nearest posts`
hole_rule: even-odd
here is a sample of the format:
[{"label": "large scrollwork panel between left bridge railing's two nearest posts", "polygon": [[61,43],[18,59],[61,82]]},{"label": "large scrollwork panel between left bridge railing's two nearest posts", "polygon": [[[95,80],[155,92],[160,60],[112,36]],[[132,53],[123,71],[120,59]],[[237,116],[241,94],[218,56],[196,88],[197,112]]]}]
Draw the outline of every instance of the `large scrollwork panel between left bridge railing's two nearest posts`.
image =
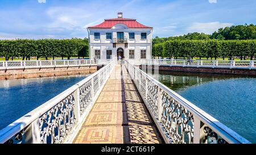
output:
[{"label": "large scrollwork panel between left bridge railing's two nearest posts", "polygon": [[63,143],[76,123],[73,93],[39,118],[41,143]]}]

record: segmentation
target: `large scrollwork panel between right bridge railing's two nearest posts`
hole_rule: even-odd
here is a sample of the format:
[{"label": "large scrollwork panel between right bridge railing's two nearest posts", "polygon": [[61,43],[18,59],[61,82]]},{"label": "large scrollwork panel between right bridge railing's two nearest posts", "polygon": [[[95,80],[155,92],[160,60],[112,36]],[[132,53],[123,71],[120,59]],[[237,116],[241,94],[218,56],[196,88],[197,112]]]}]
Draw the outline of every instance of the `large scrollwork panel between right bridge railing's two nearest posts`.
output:
[{"label": "large scrollwork panel between right bridge railing's two nearest posts", "polygon": [[194,116],[166,92],[162,92],[162,124],[173,143],[193,143]]}]

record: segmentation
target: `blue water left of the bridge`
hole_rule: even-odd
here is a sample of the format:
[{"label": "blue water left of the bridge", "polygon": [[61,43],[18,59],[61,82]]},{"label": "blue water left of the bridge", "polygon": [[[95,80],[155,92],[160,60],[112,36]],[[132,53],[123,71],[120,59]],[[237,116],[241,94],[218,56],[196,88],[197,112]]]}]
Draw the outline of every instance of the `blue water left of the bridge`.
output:
[{"label": "blue water left of the bridge", "polygon": [[0,129],[60,94],[88,75],[0,81]]}]

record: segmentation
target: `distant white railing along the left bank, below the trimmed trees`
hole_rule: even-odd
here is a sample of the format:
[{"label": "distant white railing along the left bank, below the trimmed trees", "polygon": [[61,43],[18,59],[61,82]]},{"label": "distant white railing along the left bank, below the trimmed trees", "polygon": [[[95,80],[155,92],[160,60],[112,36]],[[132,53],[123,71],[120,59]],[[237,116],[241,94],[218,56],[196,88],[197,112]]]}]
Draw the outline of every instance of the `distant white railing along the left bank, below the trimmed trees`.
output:
[{"label": "distant white railing along the left bank, below the trimmed trees", "polygon": [[0,61],[0,69],[42,68],[65,66],[97,65],[97,60],[28,60],[28,61]]}]

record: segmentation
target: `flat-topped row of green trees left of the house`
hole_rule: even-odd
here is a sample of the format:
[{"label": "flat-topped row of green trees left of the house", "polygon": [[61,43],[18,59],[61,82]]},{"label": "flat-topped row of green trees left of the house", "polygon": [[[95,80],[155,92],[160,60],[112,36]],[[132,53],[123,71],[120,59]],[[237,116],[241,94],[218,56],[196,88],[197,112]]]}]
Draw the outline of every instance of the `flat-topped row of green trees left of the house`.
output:
[{"label": "flat-topped row of green trees left of the house", "polygon": [[31,57],[53,59],[55,57],[88,57],[88,39],[17,39],[0,40],[0,57],[13,60],[22,57],[30,60]]}]

